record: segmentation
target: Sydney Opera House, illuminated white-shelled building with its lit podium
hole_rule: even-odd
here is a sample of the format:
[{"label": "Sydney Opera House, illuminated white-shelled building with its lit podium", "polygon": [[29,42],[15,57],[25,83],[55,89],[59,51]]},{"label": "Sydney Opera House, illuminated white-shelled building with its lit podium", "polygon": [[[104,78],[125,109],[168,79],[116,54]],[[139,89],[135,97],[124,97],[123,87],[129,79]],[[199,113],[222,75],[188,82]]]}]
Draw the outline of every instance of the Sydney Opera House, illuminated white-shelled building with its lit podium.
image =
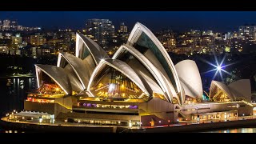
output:
[{"label": "Sydney Opera House, illuminated white-shelled building with its lit podium", "polygon": [[57,66],[35,69],[38,90],[28,94],[24,110],[63,122],[159,126],[253,114],[250,80],[229,86],[213,81],[206,101],[197,64],[174,65],[158,38],[138,22],[112,58],[77,34],[75,55],[59,53]]}]

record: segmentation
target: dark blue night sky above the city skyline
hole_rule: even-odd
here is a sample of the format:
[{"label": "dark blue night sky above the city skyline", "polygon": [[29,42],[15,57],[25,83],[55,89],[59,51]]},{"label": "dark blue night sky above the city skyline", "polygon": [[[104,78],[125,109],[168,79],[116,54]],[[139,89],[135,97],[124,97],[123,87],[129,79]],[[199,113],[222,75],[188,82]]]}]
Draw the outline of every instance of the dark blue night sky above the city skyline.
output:
[{"label": "dark blue night sky above the city skyline", "polygon": [[118,27],[125,22],[131,29],[141,22],[150,30],[238,30],[244,24],[256,24],[256,12],[250,11],[15,11],[0,12],[0,19],[16,19],[18,25],[41,26],[45,29],[82,29],[86,19],[106,18]]}]

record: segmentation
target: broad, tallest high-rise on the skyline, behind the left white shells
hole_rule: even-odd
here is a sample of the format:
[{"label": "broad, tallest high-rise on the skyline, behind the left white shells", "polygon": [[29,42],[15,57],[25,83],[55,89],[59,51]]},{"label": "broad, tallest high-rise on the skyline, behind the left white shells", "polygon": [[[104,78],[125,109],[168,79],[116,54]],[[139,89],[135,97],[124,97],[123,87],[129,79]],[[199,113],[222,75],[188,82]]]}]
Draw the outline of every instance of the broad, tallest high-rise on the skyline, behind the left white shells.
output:
[{"label": "broad, tallest high-rise on the skyline, behind the left white shells", "polygon": [[85,33],[87,37],[106,48],[114,37],[114,25],[109,19],[88,19]]}]

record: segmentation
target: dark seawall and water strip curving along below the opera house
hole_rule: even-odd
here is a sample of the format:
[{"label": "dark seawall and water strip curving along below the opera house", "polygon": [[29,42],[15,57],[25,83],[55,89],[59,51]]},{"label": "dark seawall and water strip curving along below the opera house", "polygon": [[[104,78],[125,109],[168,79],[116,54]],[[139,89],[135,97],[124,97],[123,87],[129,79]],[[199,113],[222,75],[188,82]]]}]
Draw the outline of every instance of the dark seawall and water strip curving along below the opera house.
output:
[{"label": "dark seawall and water strip curving along below the opera house", "polygon": [[[5,117],[4,117],[5,118]],[[232,128],[254,127],[256,119],[245,119],[227,122],[210,122],[200,124],[188,124],[182,126],[162,126],[154,128],[127,128],[126,126],[59,126],[35,123],[10,122],[1,118],[0,126],[3,129],[17,129],[35,133],[45,132],[90,132],[90,133],[190,133],[190,132],[207,132],[213,130],[225,130]]]}]

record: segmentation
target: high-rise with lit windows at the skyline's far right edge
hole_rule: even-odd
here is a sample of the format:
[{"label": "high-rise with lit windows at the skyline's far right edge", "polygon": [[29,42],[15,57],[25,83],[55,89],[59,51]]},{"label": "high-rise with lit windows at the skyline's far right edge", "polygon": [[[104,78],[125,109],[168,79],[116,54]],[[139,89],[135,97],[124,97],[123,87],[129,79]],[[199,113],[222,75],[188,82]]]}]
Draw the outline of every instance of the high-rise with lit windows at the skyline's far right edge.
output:
[{"label": "high-rise with lit windows at the skyline's far right edge", "polygon": [[254,41],[256,26],[239,26],[239,35],[243,40]]}]

